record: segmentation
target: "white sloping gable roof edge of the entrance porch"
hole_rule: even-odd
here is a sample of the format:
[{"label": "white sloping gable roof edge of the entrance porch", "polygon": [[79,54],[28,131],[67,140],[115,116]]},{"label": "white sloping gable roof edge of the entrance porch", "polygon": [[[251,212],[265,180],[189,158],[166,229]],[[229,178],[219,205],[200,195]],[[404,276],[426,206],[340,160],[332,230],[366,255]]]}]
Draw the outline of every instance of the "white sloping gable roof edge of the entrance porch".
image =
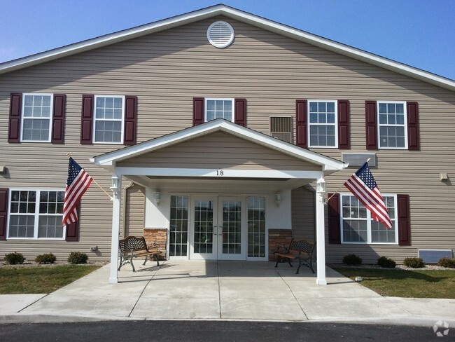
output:
[{"label": "white sloping gable roof edge of the entrance porch", "polygon": [[164,149],[165,147],[180,144],[181,142],[186,142],[190,139],[194,139],[195,137],[209,135],[214,132],[227,132],[241,139],[265,146],[268,149],[273,149],[274,151],[279,151],[288,156],[293,156],[294,158],[300,160],[321,165],[321,171],[323,171],[326,175],[338,170],[343,170],[348,166],[348,164],[339,160],[323,156],[320,153],[309,151],[307,149],[302,149],[301,147],[283,142],[279,139],[275,139],[274,137],[270,137],[269,135],[251,130],[250,128],[244,128],[241,125],[226,121],[222,118],[203,123],[202,125],[186,128],[169,135],[151,139],[147,142],[142,142],[141,144],[127,146],[123,149],[104,153],[100,156],[91,158],[90,161],[92,161],[95,165],[103,167],[115,167],[116,163],[121,160],[126,160],[145,153]]}]

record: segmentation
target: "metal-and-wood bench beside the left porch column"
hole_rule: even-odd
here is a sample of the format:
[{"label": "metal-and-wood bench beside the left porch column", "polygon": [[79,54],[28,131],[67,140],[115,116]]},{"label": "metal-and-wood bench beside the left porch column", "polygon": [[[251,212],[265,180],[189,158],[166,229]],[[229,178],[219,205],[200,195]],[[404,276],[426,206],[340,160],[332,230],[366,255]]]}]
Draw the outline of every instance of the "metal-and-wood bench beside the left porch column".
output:
[{"label": "metal-and-wood bench beside the left porch column", "polygon": [[158,256],[162,253],[161,251],[151,252],[147,245],[146,239],[144,236],[127,236],[124,239],[118,241],[118,247],[120,248],[120,266],[118,271],[125,264],[131,264],[133,267],[133,272],[136,272],[134,269],[133,258],[146,257],[144,264],[146,264],[148,259],[155,258],[157,266],[160,266],[160,261],[158,261]]}]

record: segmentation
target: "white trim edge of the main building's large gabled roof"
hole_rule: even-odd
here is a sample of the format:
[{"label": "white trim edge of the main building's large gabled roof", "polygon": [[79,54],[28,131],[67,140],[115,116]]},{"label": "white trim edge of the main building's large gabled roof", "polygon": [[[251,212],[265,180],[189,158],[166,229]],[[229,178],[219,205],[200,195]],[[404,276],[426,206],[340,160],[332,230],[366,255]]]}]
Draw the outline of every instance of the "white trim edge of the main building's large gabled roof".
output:
[{"label": "white trim edge of the main building's large gabled roof", "polygon": [[113,43],[126,41],[129,39],[137,38],[139,36],[144,36],[146,34],[160,32],[165,29],[170,29],[172,27],[186,25],[190,22],[196,22],[206,18],[212,18],[217,15],[225,15],[226,17],[238,20],[239,22],[245,22],[249,25],[260,27],[271,32],[275,32],[276,34],[288,36],[298,41],[303,41],[313,46],[318,46],[319,48],[339,53],[340,55],[352,57],[356,60],[361,60],[363,62],[376,65],[377,67],[395,71],[398,74],[403,74],[412,78],[416,78],[421,81],[431,83],[434,84],[435,86],[440,86],[442,88],[446,88],[449,90],[455,90],[455,81],[452,81],[449,78],[437,76],[428,71],[416,69],[414,67],[410,67],[407,64],[395,62],[393,60],[389,60],[379,55],[374,55],[373,53],[367,53],[366,51],[360,50],[358,48],[353,48],[351,46],[347,46],[336,41],[331,41],[330,39],[325,39],[321,36],[316,36],[314,34],[304,32],[300,29],[295,29],[293,27],[289,27],[278,22],[274,22],[272,20],[267,20],[265,18],[261,18],[251,13],[239,11],[236,8],[225,6],[223,4],[202,8],[198,11],[177,15],[175,17],[168,18],[165,20],[159,20],[157,22],[152,22],[150,24],[133,27],[131,29],[125,29],[120,32],[107,34],[105,36],[99,36],[94,39],[81,41],[79,43],[74,43],[69,46],[64,46],[62,48],[56,48],[54,50],[45,51],[43,53],[38,53],[36,55],[23,57],[18,60],[5,62],[0,64],[0,74],[5,74],[10,71],[30,67],[32,65],[40,64],[43,62],[48,62],[50,60],[56,60],[58,58],[74,55],[76,53],[82,53],[84,51],[92,50],[94,48],[108,46]]}]

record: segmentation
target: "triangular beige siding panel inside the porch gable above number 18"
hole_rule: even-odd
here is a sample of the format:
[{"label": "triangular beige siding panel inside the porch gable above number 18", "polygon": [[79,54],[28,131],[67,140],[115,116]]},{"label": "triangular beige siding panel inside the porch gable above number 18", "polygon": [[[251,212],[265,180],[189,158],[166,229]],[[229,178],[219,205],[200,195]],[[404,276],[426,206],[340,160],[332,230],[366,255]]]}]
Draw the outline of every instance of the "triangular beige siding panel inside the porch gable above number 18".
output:
[{"label": "triangular beige siding panel inside the porch gable above number 18", "polygon": [[130,158],[119,167],[185,167],[237,170],[321,170],[312,163],[247,142],[225,132],[197,137]]}]

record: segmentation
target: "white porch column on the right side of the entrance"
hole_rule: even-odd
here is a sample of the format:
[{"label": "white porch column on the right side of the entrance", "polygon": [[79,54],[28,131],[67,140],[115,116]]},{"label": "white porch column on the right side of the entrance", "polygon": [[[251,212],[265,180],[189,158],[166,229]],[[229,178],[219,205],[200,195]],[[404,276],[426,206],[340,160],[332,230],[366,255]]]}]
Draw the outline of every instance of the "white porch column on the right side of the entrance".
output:
[{"label": "white porch column on the right side of the entrance", "polygon": [[316,284],[327,285],[325,279],[325,218],[324,218],[325,181],[323,177],[316,184]]}]

